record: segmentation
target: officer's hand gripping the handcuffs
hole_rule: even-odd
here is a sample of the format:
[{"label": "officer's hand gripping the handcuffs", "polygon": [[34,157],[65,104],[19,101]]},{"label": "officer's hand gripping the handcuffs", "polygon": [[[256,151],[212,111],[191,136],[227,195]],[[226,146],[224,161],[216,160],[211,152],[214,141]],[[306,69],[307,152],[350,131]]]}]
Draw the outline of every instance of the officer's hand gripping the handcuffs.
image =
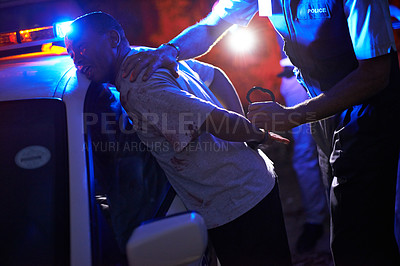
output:
[{"label": "officer's hand gripping the handcuffs", "polygon": [[249,106],[247,118],[252,124],[265,130],[286,131],[299,123],[296,115],[288,107],[276,102],[257,102]]}]

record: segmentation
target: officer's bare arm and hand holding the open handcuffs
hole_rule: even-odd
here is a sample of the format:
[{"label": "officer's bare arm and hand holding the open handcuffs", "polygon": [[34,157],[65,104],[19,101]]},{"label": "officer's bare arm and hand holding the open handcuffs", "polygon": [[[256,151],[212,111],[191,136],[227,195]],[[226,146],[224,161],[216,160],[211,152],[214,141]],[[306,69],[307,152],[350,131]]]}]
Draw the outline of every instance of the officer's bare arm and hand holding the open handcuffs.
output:
[{"label": "officer's bare arm and hand holding the open handcuffs", "polygon": [[258,127],[276,131],[329,117],[378,94],[389,84],[390,69],[390,54],[359,60],[358,68],[319,96],[293,107],[255,103],[247,117]]}]

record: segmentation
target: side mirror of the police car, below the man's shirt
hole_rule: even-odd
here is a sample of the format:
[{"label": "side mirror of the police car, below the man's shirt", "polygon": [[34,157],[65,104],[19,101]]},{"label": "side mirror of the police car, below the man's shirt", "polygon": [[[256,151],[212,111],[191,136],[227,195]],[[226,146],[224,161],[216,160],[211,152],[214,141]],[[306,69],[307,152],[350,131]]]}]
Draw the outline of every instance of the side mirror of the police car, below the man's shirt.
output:
[{"label": "side mirror of the police car, below the man's shirt", "polygon": [[207,242],[203,218],[187,212],[137,227],[128,240],[126,254],[130,266],[185,265],[202,257]]}]

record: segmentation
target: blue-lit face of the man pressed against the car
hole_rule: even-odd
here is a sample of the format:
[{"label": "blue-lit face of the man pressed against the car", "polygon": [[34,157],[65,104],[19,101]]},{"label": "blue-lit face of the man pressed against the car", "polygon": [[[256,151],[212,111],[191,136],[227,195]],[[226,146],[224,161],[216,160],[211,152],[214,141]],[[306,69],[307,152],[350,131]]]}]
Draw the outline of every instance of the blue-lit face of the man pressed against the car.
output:
[{"label": "blue-lit face of the man pressed against the car", "polygon": [[65,45],[75,67],[89,80],[101,83],[112,80],[114,51],[109,34],[82,31],[67,35]]}]

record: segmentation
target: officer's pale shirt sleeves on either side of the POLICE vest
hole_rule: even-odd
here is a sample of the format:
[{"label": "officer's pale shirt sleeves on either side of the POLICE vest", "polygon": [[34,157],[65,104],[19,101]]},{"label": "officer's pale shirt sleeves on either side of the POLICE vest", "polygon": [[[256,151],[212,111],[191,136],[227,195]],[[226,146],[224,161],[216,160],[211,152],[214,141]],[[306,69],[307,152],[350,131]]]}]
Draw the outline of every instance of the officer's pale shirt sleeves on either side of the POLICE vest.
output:
[{"label": "officer's pale shirt sleeves on either side of the POLICE vest", "polygon": [[[268,1],[272,4],[265,4]],[[213,13],[229,23],[246,26],[259,6],[265,8],[274,3],[279,4],[279,0],[220,0]],[[388,1],[344,0],[343,6],[357,59],[396,51]],[[260,10],[260,14],[265,13],[268,11]]]}]

